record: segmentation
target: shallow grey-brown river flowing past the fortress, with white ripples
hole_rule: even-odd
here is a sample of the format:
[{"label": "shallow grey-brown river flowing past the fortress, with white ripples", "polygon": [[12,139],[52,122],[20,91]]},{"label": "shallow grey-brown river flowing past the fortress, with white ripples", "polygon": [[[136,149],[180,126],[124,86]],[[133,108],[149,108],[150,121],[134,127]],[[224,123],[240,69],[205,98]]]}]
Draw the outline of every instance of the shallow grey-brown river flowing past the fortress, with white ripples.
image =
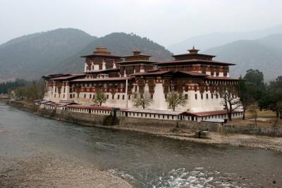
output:
[{"label": "shallow grey-brown river flowing past the fortress, with white ripples", "polygon": [[275,151],[85,127],[0,102],[0,156],[37,151],[94,164],[134,187],[282,187],[282,154]]}]

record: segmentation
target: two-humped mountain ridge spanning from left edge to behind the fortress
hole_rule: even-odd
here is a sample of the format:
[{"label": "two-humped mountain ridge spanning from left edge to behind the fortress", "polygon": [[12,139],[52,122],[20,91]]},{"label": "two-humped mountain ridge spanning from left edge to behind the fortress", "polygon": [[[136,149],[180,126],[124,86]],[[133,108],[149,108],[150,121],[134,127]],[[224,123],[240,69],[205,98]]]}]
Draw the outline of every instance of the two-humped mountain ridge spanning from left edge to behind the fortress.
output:
[{"label": "two-humped mountain ridge spanning from left edge to behind the fortress", "polygon": [[146,37],[114,32],[97,38],[82,30],[60,28],[24,35],[1,44],[0,79],[33,80],[51,73],[79,73],[84,66],[84,60],[79,56],[92,53],[99,45],[120,56],[131,54],[137,47],[152,55],[153,60],[171,58],[170,51]]}]

